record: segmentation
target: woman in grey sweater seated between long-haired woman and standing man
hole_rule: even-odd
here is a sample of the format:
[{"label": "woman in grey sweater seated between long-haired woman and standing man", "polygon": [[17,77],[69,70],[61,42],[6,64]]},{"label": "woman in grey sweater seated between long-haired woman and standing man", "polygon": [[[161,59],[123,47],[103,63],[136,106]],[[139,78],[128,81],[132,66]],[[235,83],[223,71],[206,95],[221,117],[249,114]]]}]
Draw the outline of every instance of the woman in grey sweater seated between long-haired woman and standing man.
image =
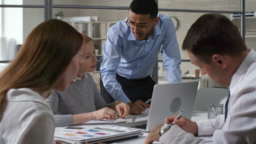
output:
[{"label": "woman in grey sweater seated between long-haired woman and standing man", "polygon": [[[75,125],[103,118],[115,119],[129,114],[129,105],[117,100],[106,104],[89,74],[96,69],[97,58],[92,39],[83,35],[82,59],[75,82],[65,92],[53,91],[46,99],[53,109],[55,127]],[[89,72],[89,73],[88,73]]]}]

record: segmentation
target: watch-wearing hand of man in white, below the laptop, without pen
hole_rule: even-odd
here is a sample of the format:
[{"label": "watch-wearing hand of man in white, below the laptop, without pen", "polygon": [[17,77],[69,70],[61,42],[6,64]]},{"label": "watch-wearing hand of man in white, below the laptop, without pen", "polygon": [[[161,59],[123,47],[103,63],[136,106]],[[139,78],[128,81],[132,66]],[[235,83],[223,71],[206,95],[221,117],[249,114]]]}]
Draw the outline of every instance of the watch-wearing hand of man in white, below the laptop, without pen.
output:
[{"label": "watch-wearing hand of man in white, below the laptop, without pen", "polygon": [[147,136],[146,141],[144,144],[150,144],[153,143],[154,141],[159,141],[160,135],[159,135],[159,130],[162,127],[163,124],[156,125],[153,127],[153,129],[150,131],[150,133]]}]

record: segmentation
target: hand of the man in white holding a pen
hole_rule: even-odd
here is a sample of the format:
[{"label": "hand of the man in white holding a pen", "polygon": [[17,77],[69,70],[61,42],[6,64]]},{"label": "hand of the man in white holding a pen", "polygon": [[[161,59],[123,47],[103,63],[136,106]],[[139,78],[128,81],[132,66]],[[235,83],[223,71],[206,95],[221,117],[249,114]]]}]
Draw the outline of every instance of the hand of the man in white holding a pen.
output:
[{"label": "hand of the man in white holding a pen", "polygon": [[179,125],[183,130],[187,131],[188,133],[194,134],[195,136],[198,135],[198,128],[196,122],[192,122],[187,118],[179,117],[179,119],[174,119],[177,115],[173,115],[171,117],[165,118],[165,123],[173,123]]}]

